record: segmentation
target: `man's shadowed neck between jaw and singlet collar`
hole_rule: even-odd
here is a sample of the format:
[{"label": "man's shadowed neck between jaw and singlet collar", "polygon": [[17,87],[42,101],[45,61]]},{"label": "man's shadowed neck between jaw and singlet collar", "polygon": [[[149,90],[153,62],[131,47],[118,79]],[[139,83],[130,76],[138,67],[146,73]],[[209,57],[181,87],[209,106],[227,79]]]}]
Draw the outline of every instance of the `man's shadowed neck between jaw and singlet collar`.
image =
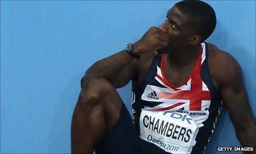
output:
[{"label": "man's shadowed neck between jaw and singlet collar", "polygon": [[190,48],[172,50],[166,54],[165,60],[170,66],[184,67],[197,61],[199,49],[199,45],[197,45],[192,47],[190,46]]}]

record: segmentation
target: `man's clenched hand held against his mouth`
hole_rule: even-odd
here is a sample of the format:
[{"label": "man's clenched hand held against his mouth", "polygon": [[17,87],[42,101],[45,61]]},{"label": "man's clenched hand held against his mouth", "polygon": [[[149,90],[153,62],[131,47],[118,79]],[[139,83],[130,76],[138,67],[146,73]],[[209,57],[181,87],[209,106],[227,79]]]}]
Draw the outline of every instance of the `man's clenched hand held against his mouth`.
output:
[{"label": "man's clenched hand held against his mouth", "polygon": [[168,45],[168,34],[160,28],[151,27],[133,44],[135,54],[141,55],[153,52],[157,49],[163,49]]}]

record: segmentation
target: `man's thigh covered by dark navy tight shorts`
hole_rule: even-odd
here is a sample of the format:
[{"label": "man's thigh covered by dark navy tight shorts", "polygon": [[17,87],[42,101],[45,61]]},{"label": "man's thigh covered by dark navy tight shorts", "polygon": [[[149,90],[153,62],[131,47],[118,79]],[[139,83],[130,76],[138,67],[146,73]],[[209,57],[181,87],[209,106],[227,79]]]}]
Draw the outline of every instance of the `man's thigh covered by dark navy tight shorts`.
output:
[{"label": "man's thigh covered by dark navy tight shorts", "polygon": [[98,153],[136,154],[140,147],[138,133],[133,125],[129,111],[122,104],[118,122],[105,130],[103,139],[97,145]]}]

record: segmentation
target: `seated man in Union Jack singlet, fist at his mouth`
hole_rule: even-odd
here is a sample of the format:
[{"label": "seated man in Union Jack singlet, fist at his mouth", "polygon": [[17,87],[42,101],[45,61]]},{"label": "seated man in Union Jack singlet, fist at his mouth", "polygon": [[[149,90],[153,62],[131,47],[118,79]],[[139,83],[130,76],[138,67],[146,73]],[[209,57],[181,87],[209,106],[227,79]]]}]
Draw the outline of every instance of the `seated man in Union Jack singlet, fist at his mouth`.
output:
[{"label": "seated man in Union Jack singlet, fist at his mouth", "polygon": [[[94,63],[81,80],[72,152],[203,153],[221,100],[241,145],[255,148],[241,68],[230,54],[204,43],[215,25],[207,3],[181,1],[162,25]],[[132,121],[115,90],[130,80]]]}]

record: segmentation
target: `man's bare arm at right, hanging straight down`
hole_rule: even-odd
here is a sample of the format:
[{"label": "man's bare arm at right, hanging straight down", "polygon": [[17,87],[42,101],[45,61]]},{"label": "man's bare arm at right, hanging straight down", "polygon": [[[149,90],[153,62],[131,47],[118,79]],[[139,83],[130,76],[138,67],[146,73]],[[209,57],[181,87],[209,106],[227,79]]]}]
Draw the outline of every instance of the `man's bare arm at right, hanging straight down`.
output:
[{"label": "man's bare arm at right, hanging straight down", "polygon": [[215,80],[242,146],[254,147],[256,122],[249,106],[247,92],[243,85],[242,71],[238,62],[227,52],[218,56],[219,69]]}]

